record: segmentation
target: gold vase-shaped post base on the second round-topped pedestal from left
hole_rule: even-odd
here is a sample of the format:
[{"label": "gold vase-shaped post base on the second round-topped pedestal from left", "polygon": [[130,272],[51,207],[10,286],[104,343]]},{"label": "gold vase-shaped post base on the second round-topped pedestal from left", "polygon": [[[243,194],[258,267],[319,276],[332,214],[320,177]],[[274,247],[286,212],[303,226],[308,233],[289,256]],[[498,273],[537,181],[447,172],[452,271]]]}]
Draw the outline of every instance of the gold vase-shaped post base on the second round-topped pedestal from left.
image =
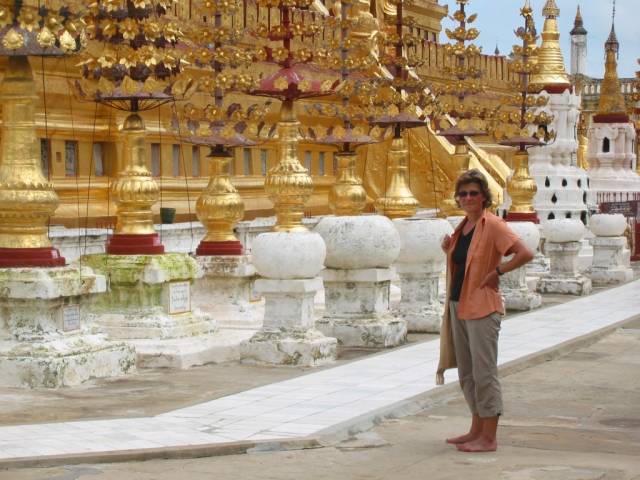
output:
[{"label": "gold vase-shaped post base on the second round-topped pedestal from left", "polygon": [[360,215],[367,205],[367,193],[356,173],[355,152],[338,152],[336,183],[329,192],[329,207],[335,215]]}]

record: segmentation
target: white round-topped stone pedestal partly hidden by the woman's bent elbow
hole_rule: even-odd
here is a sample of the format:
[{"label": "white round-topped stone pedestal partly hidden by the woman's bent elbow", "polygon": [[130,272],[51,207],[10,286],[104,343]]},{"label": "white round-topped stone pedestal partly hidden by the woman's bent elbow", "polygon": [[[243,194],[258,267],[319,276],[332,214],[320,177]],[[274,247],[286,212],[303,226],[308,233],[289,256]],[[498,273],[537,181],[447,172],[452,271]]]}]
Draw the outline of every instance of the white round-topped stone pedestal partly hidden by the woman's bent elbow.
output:
[{"label": "white round-topped stone pedestal partly hidden by the woman's bent elbow", "polygon": [[[522,239],[531,251],[538,249],[540,232],[532,222],[509,222],[509,227]],[[505,258],[505,261],[508,260]],[[504,274],[500,278],[500,291],[507,310],[528,311],[542,305],[540,294],[529,288],[525,266]]]}]

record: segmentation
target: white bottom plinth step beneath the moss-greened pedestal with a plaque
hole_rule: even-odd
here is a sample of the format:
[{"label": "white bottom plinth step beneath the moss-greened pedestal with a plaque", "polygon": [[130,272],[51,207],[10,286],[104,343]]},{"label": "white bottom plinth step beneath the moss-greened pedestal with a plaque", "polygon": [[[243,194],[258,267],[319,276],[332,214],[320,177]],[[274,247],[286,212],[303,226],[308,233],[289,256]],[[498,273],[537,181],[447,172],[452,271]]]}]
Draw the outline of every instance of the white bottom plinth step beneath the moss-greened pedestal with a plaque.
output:
[{"label": "white bottom plinth step beneath the moss-greened pedestal with a plaque", "polygon": [[255,330],[219,330],[213,335],[166,340],[129,340],[142,368],[185,369],[208,363],[239,361],[240,344]]}]

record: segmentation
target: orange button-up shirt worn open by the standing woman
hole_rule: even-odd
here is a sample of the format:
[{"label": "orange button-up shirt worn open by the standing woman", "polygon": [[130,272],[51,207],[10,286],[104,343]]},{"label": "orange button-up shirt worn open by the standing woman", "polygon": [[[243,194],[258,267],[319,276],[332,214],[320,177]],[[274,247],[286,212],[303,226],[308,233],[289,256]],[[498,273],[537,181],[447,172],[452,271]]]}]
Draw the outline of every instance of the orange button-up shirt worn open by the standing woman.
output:
[{"label": "orange button-up shirt worn open by the standing woman", "polygon": [[[451,245],[447,252],[447,268],[450,273],[447,285],[447,304],[451,292],[454,264],[453,250],[460,238],[462,229],[467,223],[466,218],[453,232]],[[467,252],[464,282],[458,302],[458,317],[461,320],[477,320],[494,312],[504,314],[504,305],[500,292],[491,287],[480,288],[485,277],[496,269],[502,258],[519,239],[518,235],[509,228],[507,222],[496,215],[487,212],[476,223],[476,228]]]}]

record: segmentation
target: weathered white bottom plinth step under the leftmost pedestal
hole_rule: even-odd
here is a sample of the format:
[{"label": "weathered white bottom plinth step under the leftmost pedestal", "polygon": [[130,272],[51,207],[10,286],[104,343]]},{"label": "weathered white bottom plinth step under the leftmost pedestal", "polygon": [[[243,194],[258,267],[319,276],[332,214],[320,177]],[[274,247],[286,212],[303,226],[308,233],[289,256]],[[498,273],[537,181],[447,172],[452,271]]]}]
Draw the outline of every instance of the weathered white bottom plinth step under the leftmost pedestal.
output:
[{"label": "weathered white bottom plinth step under the leftmost pedestal", "polygon": [[135,353],[103,335],[61,336],[42,342],[0,343],[0,385],[57,388],[135,371]]}]

